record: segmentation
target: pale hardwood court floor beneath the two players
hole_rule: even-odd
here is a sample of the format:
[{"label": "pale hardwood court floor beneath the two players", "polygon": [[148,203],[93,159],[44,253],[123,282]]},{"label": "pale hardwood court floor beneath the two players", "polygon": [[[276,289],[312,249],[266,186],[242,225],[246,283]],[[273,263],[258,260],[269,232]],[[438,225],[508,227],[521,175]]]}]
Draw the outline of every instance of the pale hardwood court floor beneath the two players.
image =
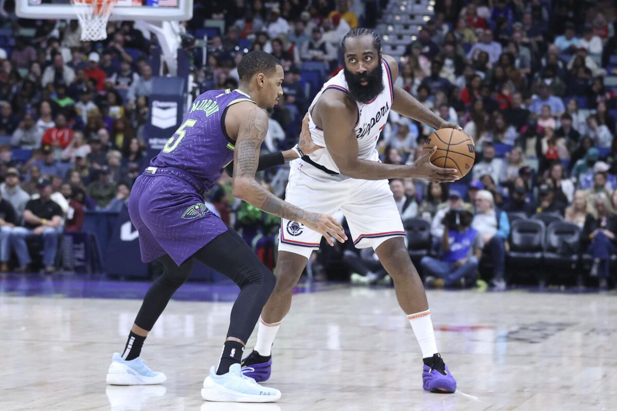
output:
[{"label": "pale hardwood court floor beneath the two players", "polygon": [[260,405],[200,396],[231,303],[172,300],[143,351],[167,383],[108,387],[112,352],[123,348],[139,299],[0,290],[0,410],[617,409],[615,291],[428,295],[457,393],[422,390],[420,351],[394,290],[335,286],[294,296],[268,381],[283,397]]}]

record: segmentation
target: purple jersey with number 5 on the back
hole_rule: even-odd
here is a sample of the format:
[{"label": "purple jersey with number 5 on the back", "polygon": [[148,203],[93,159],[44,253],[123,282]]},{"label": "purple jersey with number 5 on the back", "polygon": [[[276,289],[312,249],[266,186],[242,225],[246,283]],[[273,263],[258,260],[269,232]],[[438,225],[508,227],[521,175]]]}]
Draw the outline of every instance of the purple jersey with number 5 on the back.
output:
[{"label": "purple jersey with number 5 on the back", "polygon": [[225,132],[227,108],[241,101],[251,101],[242,91],[210,90],[197,97],[182,125],[167,140],[153,167],[178,168],[199,179],[209,191],[233,160],[234,141]]}]

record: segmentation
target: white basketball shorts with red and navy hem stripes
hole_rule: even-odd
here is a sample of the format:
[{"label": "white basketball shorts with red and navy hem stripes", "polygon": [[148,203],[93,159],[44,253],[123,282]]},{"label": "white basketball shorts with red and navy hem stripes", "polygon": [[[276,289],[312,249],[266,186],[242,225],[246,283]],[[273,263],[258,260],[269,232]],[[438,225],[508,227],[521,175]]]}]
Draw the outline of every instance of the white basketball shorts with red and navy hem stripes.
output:
[{"label": "white basketball shorts with red and navy hem stripes", "polygon": [[[341,210],[356,248],[376,249],[388,238],[405,236],[387,180],[320,178],[323,171],[300,160],[292,161],[290,167],[285,201],[313,213],[332,215]],[[281,219],[278,251],[309,258],[320,242],[318,232],[300,222]]]}]

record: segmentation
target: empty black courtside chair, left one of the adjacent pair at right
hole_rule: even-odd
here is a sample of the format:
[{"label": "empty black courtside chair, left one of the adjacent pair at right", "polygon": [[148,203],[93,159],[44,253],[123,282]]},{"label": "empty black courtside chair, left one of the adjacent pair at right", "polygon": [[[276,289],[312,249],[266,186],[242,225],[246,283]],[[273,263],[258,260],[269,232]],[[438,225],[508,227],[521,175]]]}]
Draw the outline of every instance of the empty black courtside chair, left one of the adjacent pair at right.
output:
[{"label": "empty black courtside chair, left one of the adjacent pair at right", "polygon": [[512,223],[508,266],[539,267],[544,252],[544,222],[521,219]]}]

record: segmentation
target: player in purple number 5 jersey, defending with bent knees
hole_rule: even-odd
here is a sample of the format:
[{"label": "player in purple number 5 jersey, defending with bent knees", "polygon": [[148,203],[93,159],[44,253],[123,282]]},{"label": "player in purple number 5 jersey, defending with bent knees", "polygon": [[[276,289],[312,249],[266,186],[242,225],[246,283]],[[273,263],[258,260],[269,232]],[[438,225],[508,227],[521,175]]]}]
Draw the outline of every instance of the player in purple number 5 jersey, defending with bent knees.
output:
[{"label": "player in purple number 5 jersey, defending with bent knees", "polygon": [[202,397],[271,402],[281,396],[277,389],[262,387],[244,376],[240,367],[244,344],[275,287],[275,276],[234,230],[208,210],[203,193],[212,189],[223,168],[233,161],[234,197],[267,213],[300,221],[323,234],[331,245],[331,237],[341,242],[346,237],[331,216],[286,203],[255,180],[256,171],[297,158],[299,152],[259,156],[268,129],[265,110],[283,94],[283,67],[278,59],[261,51],[246,54],[238,75],[238,89],[208,91],[197,97],[180,128],[133,185],[129,214],[139,232],[141,258],[161,262],[164,272],[147,291],[123,354],[112,357],[109,384],[150,385],[166,380],[163,373],[144,364],[141,347],[173,293],[188,278],[194,261],[199,261],[232,279],[241,290],[231,309],[220,362],[205,378]]}]

